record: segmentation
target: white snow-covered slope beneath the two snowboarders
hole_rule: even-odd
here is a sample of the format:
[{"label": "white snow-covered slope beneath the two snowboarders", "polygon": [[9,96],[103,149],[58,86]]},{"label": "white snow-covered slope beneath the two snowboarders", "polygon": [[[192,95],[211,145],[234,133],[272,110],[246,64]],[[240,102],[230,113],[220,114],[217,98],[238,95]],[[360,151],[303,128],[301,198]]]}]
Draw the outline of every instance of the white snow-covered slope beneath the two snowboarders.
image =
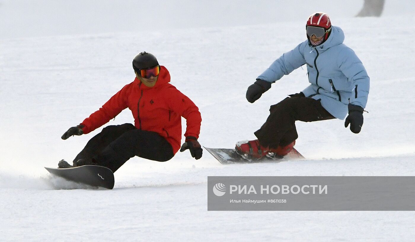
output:
[{"label": "white snow-covered slope beneath the two snowboarders", "polygon": [[[10,1],[2,2],[0,11]],[[197,161],[188,152],[164,163],[135,157],[115,173],[113,190],[89,189],[43,168],[71,161],[102,130],[60,138],[133,80],[132,58],[144,50],[199,106],[202,145],[232,148],[253,139],[270,105],[308,85],[299,68],[255,103],[245,100],[256,76],[305,40],[307,16],[238,27],[2,39],[0,241],[413,241],[414,212],[207,211],[206,185],[207,176],[414,176],[410,15],[331,16],[371,77],[369,113],[360,134],[343,120],[297,122],[296,148],[306,161],[223,166],[207,151]],[[107,125],[126,122],[133,122],[129,110]]]}]

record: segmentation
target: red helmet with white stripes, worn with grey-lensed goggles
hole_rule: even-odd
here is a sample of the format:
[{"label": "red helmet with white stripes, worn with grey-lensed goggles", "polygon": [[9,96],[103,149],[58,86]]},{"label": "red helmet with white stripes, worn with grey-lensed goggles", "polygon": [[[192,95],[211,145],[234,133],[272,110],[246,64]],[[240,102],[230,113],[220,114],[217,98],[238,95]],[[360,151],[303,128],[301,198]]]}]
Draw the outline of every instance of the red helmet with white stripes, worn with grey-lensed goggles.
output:
[{"label": "red helmet with white stripes, worn with grey-lensed goggles", "polygon": [[[329,38],[332,30],[332,23],[330,22],[329,15],[324,12],[313,13],[308,17],[305,29],[307,30],[307,39],[312,45],[317,46],[324,43]],[[310,36],[313,34],[316,37],[324,36],[324,38],[319,42],[313,43],[310,41]]]}]

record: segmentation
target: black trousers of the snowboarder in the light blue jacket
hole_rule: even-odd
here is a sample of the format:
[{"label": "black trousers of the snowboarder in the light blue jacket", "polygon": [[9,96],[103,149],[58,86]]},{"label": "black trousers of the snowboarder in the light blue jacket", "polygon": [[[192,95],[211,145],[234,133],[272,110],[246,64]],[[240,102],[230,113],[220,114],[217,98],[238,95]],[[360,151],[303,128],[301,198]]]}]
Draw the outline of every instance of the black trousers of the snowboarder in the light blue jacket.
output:
[{"label": "black trousers of the snowboarder in the light blue jacket", "polygon": [[295,121],[313,122],[333,119],[319,100],[291,97],[272,105],[270,115],[262,127],[254,132],[263,147],[286,146],[298,138]]}]

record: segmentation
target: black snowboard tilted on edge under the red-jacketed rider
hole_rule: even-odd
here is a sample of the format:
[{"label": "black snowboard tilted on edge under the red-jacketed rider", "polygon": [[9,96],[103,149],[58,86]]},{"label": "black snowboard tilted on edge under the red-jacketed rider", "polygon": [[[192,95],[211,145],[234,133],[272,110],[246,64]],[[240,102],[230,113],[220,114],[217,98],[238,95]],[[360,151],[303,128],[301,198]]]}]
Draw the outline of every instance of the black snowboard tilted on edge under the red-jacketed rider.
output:
[{"label": "black snowboard tilted on edge under the red-jacketed rider", "polygon": [[114,174],[104,166],[77,166],[73,168],[49,168],[51,174],[60,176],[69,181],[80,182],[90,186],[98,186],[107,189],[114,188]]}]

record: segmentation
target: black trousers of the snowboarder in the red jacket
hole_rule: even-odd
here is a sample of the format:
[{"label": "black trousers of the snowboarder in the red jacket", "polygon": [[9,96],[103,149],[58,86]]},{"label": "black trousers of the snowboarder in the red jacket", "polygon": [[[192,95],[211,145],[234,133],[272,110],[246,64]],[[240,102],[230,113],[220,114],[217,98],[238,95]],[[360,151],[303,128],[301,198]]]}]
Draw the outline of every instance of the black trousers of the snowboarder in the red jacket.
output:
[{"label": "black trousers of the snowboarder in the red jacket", "polygon": [[85,159],[115,172],[134,156],[168,161],[174,154],[171,144],[164,137],[156,132],[138,130],[127,123],[105,127],[88,141],[73,162]]}]

